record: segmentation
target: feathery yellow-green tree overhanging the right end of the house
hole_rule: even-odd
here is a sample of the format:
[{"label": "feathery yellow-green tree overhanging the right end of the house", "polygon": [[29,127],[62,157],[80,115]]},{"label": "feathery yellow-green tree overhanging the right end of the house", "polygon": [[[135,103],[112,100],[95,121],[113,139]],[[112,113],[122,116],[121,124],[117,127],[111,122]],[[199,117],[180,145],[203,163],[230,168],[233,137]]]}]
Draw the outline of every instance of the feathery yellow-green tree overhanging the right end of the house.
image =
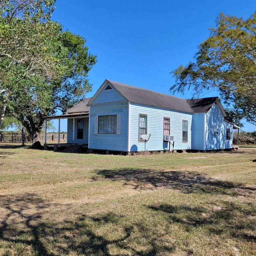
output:
[{"label": "feathery yellow-green tree overhanging the right end of the house", "polygon": [[246,20],[221,13],[209,38],[199,45],[195,62],[171,73],[176,83],[170,91],[193,89],[200,95],[217,90],[256,125],[256,13]]}]

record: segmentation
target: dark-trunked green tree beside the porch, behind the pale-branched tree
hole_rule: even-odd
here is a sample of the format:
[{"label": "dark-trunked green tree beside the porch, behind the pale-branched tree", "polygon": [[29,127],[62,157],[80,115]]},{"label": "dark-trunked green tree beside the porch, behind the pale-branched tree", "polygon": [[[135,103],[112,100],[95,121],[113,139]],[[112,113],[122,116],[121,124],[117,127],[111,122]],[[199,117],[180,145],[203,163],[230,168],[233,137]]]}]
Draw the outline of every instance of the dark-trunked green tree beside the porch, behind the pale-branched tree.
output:
[{"label": "dark-trunked green tree beside the porch, behind the pale-branched tree", "polygon": [[59,29],[56,39],[61,72],[54,79],[33,76],[21,80],[21,89],[16,90],[10,101],[9,114],[24,125],[33,142],[39,140],[44,116],[57,110],[65,112],[91,91],[87,76],[96,56],[88,52],[84,38]]}]

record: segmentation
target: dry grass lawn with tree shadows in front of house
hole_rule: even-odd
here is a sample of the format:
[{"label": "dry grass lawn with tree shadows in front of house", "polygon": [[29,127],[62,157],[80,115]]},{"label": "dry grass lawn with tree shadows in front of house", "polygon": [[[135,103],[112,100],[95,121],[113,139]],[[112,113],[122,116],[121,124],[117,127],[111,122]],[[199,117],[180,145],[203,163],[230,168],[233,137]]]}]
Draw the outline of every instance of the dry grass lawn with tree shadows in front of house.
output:
[{"label": "dry grass lawn with tree shadows in front of house", "polygon": [[0,255],[256,255],[256,149],[144,156],[0,144]]}]

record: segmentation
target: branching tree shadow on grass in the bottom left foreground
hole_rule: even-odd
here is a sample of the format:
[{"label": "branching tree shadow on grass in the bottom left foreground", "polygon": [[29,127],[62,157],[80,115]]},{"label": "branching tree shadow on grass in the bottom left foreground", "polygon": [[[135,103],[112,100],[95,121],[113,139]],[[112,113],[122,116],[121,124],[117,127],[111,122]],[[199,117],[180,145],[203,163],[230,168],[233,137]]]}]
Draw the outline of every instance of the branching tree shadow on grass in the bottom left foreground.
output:
[{"label": "branching tree shadow on grass in the bottom left foreground", "polygon": [[[174,246],[158,243],[158,234],[148,236],[140,223],[124,222],[122,215],[112,212],[94,216],[80,214],[64,221],[47,221],[43,216],[50,206],[52,204],[35,194],[0,197],[0,210],[4,212],[0,223],[0,247],[4,248],[4,255],[22,251],[22,255],[32,252],[39,256],[154,256],[175,250]],[[147,241],[147,249],[138,249],[131,243],[134,229],[143,230],[141,236]]]}]

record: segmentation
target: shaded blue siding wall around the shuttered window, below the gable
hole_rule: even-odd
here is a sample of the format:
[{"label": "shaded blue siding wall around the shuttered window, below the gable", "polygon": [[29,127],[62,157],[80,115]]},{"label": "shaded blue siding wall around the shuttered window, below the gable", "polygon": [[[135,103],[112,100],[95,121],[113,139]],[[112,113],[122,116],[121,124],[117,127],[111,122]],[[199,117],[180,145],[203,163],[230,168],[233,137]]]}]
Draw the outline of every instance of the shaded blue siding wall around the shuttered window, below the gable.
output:
[{"label": "shaded blue siding wall around the shuttered window, below the gable", "polygon": [[[111,90],[108,90],[111,91]],[[95,98],[95,100],[97,97]],[[107,99],[106,99],[107,100]],[[98,102],[98,101],[97,101]],[[95,116],[121,115],[120,134],[95,134]],[[91,149],[127,151],[128,143],[128,101],[90,105],[90,143]]]}]

